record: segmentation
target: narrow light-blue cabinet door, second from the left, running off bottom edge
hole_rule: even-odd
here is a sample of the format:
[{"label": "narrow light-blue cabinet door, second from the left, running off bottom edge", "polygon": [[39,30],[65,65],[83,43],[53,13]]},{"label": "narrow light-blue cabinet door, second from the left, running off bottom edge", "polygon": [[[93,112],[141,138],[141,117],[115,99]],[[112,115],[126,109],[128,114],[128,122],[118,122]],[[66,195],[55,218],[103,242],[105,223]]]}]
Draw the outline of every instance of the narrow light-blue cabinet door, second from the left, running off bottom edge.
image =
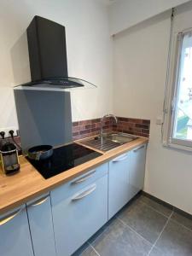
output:
[{"label": "narrow light-blue cabinet door, second from the left, running off bottom edge", "polygon": [[49,195],[27,203],[35,256],[55,256],[55,237]]}]

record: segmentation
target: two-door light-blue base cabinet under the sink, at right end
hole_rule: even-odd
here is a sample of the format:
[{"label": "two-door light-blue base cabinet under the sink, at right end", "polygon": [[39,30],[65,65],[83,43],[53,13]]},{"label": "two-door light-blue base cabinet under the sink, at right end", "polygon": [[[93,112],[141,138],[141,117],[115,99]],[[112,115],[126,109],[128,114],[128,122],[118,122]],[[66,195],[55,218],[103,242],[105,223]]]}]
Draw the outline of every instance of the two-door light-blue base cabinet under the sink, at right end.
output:
[{"label": "two-door light-blue base cabinet under the sink, at right end", "polygon": [[146,145],[139,146],[109,162],[108,219],[143,189]]}]

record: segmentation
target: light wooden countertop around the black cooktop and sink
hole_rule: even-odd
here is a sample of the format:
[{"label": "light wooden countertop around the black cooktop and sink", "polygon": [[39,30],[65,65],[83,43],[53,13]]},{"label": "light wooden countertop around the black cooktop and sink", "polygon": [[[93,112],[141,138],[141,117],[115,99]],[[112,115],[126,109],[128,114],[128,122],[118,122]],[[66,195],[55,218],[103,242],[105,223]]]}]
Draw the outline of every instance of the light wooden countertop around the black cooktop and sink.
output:
[{"label": "light wooden countertop around the black cooktop and sink", "polygon": [[[82,144],[80,141],[77,143]],[[44,179],[25,157],[20,156],[20,172],[13,176],[5,176],[3,172],[0,172],[0,214],[19,207],[21,204],[35,199],[39,195],[49,192],[51,189],[55,189],[55,187],[89,171],[91,168],[99,166],[143,143],[148,143],[148,138],[139,137],[131,143],[125,143],[118,148],[103,153],[94,160],[48,179]]]}]

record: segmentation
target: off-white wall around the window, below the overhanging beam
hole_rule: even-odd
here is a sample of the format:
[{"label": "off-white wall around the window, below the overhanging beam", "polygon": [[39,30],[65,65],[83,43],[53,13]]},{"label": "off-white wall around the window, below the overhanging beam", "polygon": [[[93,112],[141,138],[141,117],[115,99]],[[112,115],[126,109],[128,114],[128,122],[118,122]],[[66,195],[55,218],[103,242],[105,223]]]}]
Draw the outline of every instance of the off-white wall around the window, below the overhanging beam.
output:
[{"label": "off-white wall around the window, below the overhanging beam", "polygon": [[[166,82],[170,12],[114,38],[114,113],[151,119],[144,190],[192,213],[192,155],[163,148],[160,125]],[[192,3],[178,9],[175,31],[192,26]]]}]

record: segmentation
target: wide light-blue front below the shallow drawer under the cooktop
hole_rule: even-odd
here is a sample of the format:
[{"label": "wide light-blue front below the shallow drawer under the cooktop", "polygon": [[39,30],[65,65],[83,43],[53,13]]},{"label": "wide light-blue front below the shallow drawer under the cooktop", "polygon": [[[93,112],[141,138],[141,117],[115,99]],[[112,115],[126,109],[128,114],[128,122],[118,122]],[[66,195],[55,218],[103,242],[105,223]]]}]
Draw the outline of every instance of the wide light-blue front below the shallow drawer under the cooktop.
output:
[{"label": "wide light-blue front below the shallow drawer under the cooktop", "polygon": [[108,221],[108,175],[67,198],[55,189],[51,202],[57,255],[71,255]]}]

